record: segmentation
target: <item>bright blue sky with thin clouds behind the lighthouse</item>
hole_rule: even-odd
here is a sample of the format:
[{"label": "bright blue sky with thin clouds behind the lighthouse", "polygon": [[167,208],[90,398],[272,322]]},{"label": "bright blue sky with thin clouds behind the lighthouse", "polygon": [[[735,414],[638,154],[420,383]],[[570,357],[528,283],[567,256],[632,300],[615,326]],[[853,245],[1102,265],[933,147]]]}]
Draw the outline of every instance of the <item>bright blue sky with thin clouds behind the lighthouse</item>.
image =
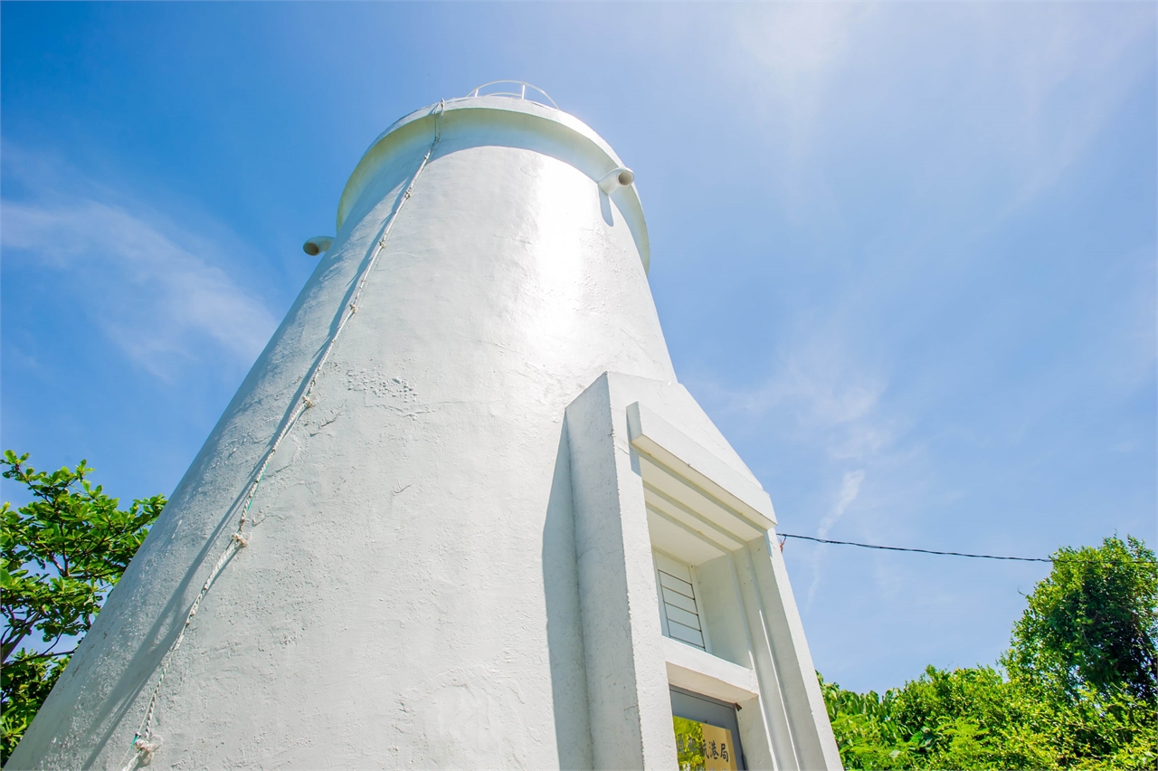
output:
[{"label": "bright blue sky with thin clouds behind the lighthouse", "polygon": [[[1150,3],[5,2],[0,21],[0,442],[39,465],[170,492],[369,141],[511,78],[635,169],[676,372],[782,530],[1158,542]],[[856,689],[992,662],[1046,572],[785,558],[818,668]]]}]

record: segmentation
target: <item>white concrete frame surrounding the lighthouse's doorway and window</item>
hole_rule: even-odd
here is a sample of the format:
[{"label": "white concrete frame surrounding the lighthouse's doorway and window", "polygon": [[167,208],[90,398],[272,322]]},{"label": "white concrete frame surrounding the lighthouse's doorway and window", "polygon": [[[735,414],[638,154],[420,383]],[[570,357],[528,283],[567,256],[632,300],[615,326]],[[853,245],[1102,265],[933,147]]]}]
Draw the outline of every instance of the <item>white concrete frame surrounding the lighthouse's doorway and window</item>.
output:
[{"label": "white concrete frame surrounding the lighthouse's doorway and window", "polygon": [[[738,505],[740,495],[755,499],[750,491],[761,490],[679,383],[607,373],[567,407],[587,695],[592,729],[606,740],[595,768],[674,768],[672,684],[743,707],[738,720],[749,768],[840,769],[783,558],[769,545],[775,530],[696,568],[711,655],[660,637],[645,542],[654,533],[635,449],[646,443],[632,442],[630,425],[640,412],[660,418],[655,438],[682,456],[689,476],[716,469],[714,480],[733,485]],[[699,491],[708,492],[711,483],[703,482]],[[736,676],[728,662],[748,676]],[[735,698],[752,688],[752,698]]]}]

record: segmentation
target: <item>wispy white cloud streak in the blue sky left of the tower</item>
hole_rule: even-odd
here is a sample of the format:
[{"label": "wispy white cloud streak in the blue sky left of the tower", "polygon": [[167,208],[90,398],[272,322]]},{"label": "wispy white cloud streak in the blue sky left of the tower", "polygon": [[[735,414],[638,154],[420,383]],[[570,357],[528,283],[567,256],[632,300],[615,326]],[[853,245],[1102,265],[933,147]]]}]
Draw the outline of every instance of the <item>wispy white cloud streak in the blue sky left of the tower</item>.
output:
[{"label": "wispy white cloud streak in the blue sky left of the tower", "polygon": [[171,380],[204,362],[244,367],[261,352],[277,321],[200,256],[213,251],[203,238],[144,207],[35,193],[0,203],[8,264],[19,255],[20,270],[53,272],[57,286],[135,365]]}]

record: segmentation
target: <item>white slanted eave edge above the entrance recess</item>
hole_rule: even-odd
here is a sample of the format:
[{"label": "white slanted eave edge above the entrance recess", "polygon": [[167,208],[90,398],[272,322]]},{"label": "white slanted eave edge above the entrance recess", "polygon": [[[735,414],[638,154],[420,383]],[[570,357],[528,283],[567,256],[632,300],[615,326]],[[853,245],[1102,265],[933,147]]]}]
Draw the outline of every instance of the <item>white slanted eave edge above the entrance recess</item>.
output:
[{"label": "white slanted eave edge above the entrance recess", "polygon": [[628,406],[628,435],[638,451],[659,461],[760,529],[776,527],[772,499],[762,487],[639,402]]}]

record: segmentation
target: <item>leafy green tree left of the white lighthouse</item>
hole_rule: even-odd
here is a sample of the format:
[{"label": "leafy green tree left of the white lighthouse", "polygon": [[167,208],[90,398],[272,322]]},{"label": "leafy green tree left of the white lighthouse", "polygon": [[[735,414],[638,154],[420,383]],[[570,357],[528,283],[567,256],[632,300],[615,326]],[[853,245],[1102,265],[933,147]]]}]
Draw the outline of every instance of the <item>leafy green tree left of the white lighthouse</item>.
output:
[{"label": "leafy green tree left of the white lighthouse", "polygon": [[116,498],[86,478],[93,469],[85,461],[75,470],[37,471],[28,464],[27,454],[16,456],[8,450],[0,467],[3,476],[23,485],[31,498],[20,508],[7,502],[0,508],[2,763],[36,717],[166,499],[154,495],[120,509]]}]

